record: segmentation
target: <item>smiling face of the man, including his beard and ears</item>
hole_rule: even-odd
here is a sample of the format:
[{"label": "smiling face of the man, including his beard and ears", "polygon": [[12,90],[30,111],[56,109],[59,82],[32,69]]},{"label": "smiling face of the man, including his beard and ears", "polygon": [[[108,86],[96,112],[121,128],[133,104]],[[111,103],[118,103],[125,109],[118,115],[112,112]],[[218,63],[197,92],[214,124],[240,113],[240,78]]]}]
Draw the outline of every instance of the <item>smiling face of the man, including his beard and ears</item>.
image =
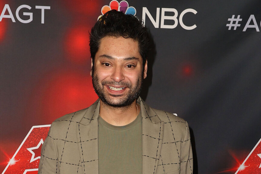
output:
[{"label": "smiling face of the man, including his beard and ears", "polygon": [[92,83],[101,101],[113,107],[129,106],[140,95],[147,62],[142,66],[138,43],[131,38],[104,37],[94,59]]}]

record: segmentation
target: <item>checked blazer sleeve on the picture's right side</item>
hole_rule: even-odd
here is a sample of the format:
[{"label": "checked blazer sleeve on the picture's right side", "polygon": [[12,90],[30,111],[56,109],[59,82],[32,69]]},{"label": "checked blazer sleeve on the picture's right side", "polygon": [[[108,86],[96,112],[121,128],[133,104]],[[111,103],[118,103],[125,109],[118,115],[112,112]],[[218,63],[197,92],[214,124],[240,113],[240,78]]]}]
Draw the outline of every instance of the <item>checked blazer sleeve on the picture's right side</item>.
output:
[{"label": "checked blazer sleeve on the picture's right side", "polygon": [[180,174],[193,173],[193,155],[190,143],[190,131],[188,123],[186,122],[186,133],[181,144],[181,163]]}]

